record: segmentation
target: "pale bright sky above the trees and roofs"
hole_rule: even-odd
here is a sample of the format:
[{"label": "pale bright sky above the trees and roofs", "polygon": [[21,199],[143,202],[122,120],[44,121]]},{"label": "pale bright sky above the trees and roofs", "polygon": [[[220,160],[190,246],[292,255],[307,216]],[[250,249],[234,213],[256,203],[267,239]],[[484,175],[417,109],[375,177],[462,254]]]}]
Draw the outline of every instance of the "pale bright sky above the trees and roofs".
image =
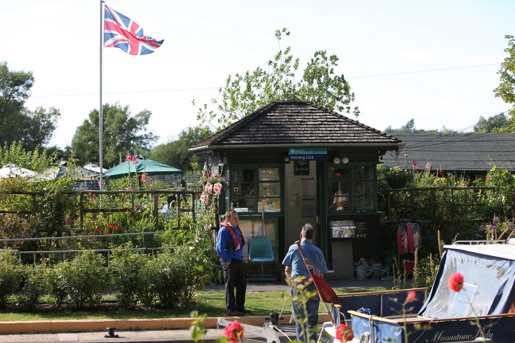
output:
[{"label": "pale bright sky above the trees and roofs", "polygon": [[[164,39],[156,52],[129,56],[104,49],[104,102],[152,112],[158,143],[196,125],[196,108],[217,96],[228,75],[244,73],[278,50],[274,31],[300,65],[316,50],[339,57],[359,106],[358,120],[375,129],[411,118],[419,129],[461,130],[479,116],[510,108],[492,89],[515,34],[511,1],[158,1],[107,5]],[[99,106],[98,1],[23,0],[3,4],[0,61],[32,70],[27,106],[61,111],[53,144],[70,144],[75,129]],[[493,64],[493,65],[492,65]],[[475,66],[469,67],[468,66]],[[426,71],[447,69],[437,71]],[[393,75],[391,75],[393,74]],[[349,117],[355,119],[352,115]],[[469,129],[470,130],[470,129]]]}]

